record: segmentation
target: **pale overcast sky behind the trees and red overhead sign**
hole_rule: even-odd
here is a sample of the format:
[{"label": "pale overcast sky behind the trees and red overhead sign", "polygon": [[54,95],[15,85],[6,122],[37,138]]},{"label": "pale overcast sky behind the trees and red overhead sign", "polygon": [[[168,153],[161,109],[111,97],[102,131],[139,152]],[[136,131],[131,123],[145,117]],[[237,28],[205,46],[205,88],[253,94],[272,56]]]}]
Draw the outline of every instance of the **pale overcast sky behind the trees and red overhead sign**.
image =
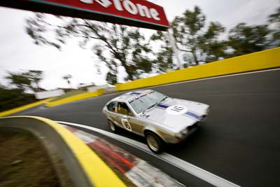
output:
[{"label": "pale overcast sky behind the trees and red overhead sign", "polygon": [[[266,22],[267,16],[274,13],[280,5],[279,0],[153,0],[165,8],[169,21],[182,15],[186,9],[200,6],[207,21],[221,22],[227,29],[239,22],[248,25],[258,25]],[[36,46],[25,34],[25,18],[34,13],[11,8],[0,8],[0,83],[7,85],[6,71],[21,71],[27,69],[45,72],[41,87],[45,89],[66,88],[62,76],[71,74],[73,86],[78,83],[104,84],[103,74],[97,74],[94,68],[94,54],[90,50],[78,47],[75,41],[68,42],[59,51],[50,46]],[[143,29],[147,34],[151,30]]]}]

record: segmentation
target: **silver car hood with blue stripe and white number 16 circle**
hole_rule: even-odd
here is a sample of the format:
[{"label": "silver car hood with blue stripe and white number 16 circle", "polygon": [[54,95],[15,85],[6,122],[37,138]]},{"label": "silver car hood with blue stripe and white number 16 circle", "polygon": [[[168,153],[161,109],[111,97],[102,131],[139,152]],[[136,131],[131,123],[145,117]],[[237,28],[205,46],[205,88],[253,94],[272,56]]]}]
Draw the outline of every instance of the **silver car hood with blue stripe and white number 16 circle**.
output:
[{"label": "silver car hood with blue stripe and white number 16 circle", "polygon": [[144,113],[143,118],[153,120],[162,125],[183,130],[202,120],[209,105],[182,99],[169,98]]}]

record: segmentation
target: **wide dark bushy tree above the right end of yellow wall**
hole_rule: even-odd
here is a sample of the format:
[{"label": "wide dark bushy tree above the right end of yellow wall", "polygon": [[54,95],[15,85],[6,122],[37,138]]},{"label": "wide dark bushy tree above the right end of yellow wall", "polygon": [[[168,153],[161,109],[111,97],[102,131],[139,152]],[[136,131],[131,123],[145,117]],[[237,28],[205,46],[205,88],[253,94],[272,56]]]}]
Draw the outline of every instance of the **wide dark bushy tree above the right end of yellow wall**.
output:
[{"label": "wide dark bushy tree above the right end of yellow wall", "polygon": [[246,23],[239,23],[229,34],[228,45],[234,49],[232,55],[246,55],[265,50],[269,45],[268,34],[267,25],[248,26]]}]

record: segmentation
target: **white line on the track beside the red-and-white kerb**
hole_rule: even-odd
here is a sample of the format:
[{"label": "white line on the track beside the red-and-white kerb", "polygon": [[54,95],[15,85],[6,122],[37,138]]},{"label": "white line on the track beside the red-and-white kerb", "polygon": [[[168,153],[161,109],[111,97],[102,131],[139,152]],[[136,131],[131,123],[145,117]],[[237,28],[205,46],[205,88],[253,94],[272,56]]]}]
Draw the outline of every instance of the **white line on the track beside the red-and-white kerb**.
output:
[{"label": "white line on the track beside the red-and-white kerb", "polygon": [[125,144],[128,144],[130,146],[134,146],[135,148],[140,149],[141,151],[144,151],[150,155],[153,155],[154,157],[164,160],[165,162],[168,162],[169,164],[174,165],[175,167],[179,167],[185,172],[188,172],[190,174],[193,174],[194,176],[197,176],[198,178],[207,181],[208,183],[211,183],[214,186],[221,186],[221,187],[237,187],[238,185],[235,183],[232,183],[230,181],[227,181],[220,176],[216,176],[215,174],[211,174],[210,172],[205,171],[204,169],[201,169],[200,167],[196,167],[195,165],[190,164],[189,162],[186,162],[184,160],[181,160],[179,158],[174,157],[173,155],[170,155],[168,153],[162,153],[160,155],[157,155],[155,153],[152,153],[146,144],[142,144],[139,141],[134,141],[133,139],[128,139],[127,137],[122,137],[118,134],[113,134],[111,132],[107,132],[105,130],[100,130],[94,127],[89,127],[87,125],[80,125],[77,123],[69,123],[64,121],[56,121],[57,123],[63,124],[63,125],[71,125],[75,127],[82,127],[87,130],[92,130],[94,132],[98,132],[100,134],[104,134],[107,137],[111,137],[113,139],[116,139],[118,141],[121,141]]}]

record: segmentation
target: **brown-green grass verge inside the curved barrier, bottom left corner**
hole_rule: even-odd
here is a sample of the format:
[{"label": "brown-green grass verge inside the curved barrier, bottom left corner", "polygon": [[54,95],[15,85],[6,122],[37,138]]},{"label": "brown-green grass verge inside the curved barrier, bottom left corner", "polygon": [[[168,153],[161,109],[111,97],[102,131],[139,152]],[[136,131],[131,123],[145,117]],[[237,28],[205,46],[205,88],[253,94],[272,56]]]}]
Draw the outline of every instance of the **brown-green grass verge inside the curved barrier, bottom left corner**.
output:
[{"label": "brown-green grass verge inside the curved barrier, bottom left corner", "polygon": [[0,131],[0,158],[1,187],[61,186],[48,153],[30,132]]}]

